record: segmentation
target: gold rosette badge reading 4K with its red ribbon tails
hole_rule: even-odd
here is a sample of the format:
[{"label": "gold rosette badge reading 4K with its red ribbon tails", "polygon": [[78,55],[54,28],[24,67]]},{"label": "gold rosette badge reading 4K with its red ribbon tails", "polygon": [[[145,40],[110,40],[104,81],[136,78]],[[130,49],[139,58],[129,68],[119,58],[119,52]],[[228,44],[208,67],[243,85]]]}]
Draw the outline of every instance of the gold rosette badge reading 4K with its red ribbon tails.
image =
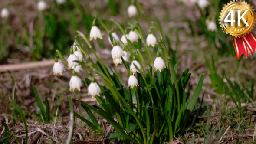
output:
[{"label": "gold rosette badge reading 4K with its red ribbon tails", "polygon": [[220,12],[220,27],[233,36],[236,60],[242,54],[249,58],[249,51],[252,55],[255,51],[256,37],[252,32],[255,20],[254,9],[246,2],[230,1]]}]

